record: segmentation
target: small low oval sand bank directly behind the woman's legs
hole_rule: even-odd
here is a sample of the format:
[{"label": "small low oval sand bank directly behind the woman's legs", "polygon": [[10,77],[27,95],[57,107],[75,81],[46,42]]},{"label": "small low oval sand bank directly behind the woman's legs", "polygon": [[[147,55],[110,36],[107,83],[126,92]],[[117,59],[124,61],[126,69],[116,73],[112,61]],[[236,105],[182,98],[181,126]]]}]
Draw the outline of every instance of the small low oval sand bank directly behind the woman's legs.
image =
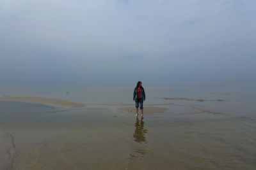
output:
[{"label": "small low oval sand bank directly behind the woman's legs", "polygon": [[[148,113],[162,113],[164,111],[167,111],[167,108],[161,108],[161,107],[144,107],[143,108],[143,113],[148,114]],[[118,108],[118,111],[123,112],[123,113],[135,113],[135,108],[134,107],[125,107],[125,108]],[[139,110],[140,113],[140,110]]]}]

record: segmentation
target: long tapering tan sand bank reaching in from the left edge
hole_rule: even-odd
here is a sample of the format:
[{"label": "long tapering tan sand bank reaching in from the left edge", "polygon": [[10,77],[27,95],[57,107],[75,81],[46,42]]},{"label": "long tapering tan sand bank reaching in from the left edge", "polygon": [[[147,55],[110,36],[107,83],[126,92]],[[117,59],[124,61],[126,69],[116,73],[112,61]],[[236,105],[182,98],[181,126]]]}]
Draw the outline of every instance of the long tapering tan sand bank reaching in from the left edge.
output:
[{"label": "long tapering tan sand bank reaching in from the left edge", "polygon": [[1,101],[31,101],[36,103],[45,103],[52,104],[56,106],[63,106],[68,108],[83,108],[85,105],[81,103],[74,103],[70,101],[65,101],[61,99],[53,99],[47,97],[13,97],[13,96],[5,96],[0,97]]}]

